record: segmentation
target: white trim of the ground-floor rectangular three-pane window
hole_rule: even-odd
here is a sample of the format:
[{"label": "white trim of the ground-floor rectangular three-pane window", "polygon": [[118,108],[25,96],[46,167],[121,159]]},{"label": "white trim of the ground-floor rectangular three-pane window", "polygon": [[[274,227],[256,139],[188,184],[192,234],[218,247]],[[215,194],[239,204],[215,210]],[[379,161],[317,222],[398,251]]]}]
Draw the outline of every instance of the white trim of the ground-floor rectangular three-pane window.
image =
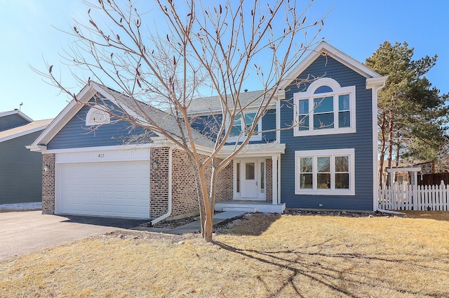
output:
[{"label": "white trim of the ground-floor rectangular three-pane window", "polygon": [[[349,190],[348,189],[318,189],[316,188],[316,157],[335,157],[349,155]],[[314,189],[300,189],[300,157],[313,157]],[[334,160],[332,158],[332,160]],[[295,195],[355,195],[355,153],[354,148],[330,149],[330,150],[303,150],[295,151]],[[331,176],[335,175],[335,162],[330,163]]]}]

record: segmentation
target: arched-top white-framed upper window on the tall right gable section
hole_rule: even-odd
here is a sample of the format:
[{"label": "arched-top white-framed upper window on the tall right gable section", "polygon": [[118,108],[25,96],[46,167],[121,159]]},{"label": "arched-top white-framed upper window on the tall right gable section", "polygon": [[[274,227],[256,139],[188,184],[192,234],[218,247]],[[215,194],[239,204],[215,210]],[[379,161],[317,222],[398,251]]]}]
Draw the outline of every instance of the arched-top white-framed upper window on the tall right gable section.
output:
[{"label": "arched-top white-framed upper window on the tall right gable section", "polygon": [[356,132],[356,86],[340,87],[335,79],[322,78],[295,93],[293,101],[294,136]]}]

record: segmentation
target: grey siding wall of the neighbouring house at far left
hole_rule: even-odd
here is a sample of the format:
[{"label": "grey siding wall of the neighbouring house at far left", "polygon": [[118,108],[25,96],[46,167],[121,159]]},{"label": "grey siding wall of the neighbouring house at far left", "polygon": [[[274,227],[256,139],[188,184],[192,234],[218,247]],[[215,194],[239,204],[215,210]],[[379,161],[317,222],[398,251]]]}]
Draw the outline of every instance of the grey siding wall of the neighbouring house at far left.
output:
[{"label": "grey siding wall of the neighbouring house at far left", "polygon": [[41,132],[0,143],[0,205],[42,200],[42,155],[25,148]]}]

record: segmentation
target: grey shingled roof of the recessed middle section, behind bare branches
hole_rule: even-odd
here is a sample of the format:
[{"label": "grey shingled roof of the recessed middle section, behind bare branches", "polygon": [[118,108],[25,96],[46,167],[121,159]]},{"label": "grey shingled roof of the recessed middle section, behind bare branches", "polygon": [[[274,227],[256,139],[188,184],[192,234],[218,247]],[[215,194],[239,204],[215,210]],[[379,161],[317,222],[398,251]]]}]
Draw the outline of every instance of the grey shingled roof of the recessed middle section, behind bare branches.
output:
[{"label": "grey shingled roof of the recessed middle section, behind bare branches", "polygon": [[[264,95],[264,93],[266,94]],[[239,101],[242,107],[248,105],[247,108],[257,108],[262,100],[268,101],[271,94],[271,91],[264,90],[242,92],[239,94]],[[226,97],[227,101],[230,103],[229,107],[232,107],[234,105],[233,96],[228,94]],[[276,101],[272,100],[270,105],[276,105]],[[195,98],[191,101],[188,112],[189,114],[221,113],[222,103],[220,101],[220,96]]]}]

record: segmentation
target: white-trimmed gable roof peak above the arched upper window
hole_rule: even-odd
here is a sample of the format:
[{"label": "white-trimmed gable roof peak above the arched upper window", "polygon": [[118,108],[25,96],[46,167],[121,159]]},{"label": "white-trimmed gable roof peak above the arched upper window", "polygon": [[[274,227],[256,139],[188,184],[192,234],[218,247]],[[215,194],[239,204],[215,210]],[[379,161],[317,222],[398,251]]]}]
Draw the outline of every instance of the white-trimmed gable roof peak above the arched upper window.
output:
[{"label": "white-trimmed gable roof peak above the arched upper window", "polygon": [[279,85],[279,89],[286,89],[291,82],[296,79],[304,70],[306,70],[311,63],[313,63],[316,58],[319,56],[328,56],[331,57],[343,65],[349,67],[351,70],[358,72],[363,77],[366,77],[367,85],[374,84],[375,86],[380,86],[387,80],[387,77],[383,77],[381,74],[378,74],[374,70],[371,70],[370,67],[364,65],[363,63],[358,62],[354,58],[351,58],[347,54],[338,50],[334,46],[331,46],[326,41],[321,41],[311,52],[302,60],[295,68],[286,76],[285,81]]}]

